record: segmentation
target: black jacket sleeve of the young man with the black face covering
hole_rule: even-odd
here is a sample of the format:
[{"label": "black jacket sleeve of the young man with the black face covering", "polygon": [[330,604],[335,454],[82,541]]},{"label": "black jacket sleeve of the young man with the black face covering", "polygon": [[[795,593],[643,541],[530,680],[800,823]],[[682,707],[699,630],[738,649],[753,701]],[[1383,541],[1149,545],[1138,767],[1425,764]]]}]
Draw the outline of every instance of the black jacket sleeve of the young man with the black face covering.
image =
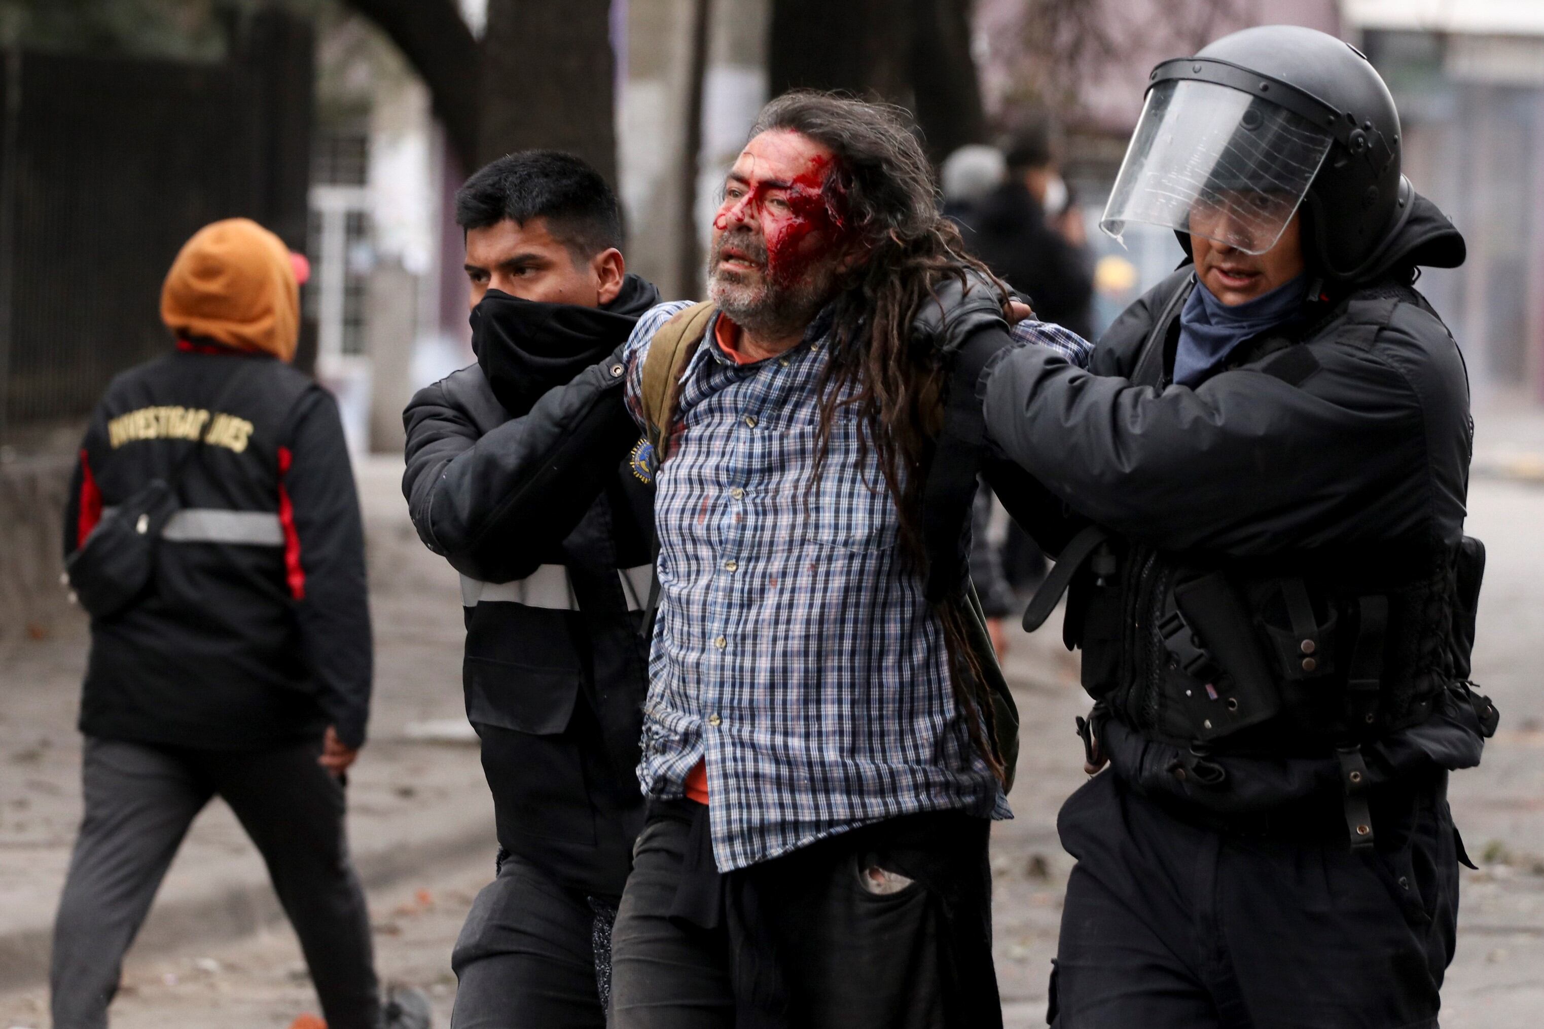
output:
[{"label": "black jacket sleeve of the young man with the black face covering", "polygon": [[408,406],[403,492],[418,535],[472,579],[530,574],[616,475],[638,426],[621,349],[482,438],[434,387]]}]

